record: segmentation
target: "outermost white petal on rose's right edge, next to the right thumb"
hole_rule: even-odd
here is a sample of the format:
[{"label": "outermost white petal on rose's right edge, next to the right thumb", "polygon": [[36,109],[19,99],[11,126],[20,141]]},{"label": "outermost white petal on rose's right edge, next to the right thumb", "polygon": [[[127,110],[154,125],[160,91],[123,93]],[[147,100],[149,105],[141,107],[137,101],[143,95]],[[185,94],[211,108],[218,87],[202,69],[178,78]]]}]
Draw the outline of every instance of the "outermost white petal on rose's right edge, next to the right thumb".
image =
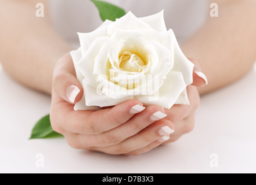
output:
[{"label": "outermost white petal on rose's right edge, next to the right thumb", "polygon": [[[172,32],[174,35],[174,33]],[[174,67],[172,71],[180,71],[184,77],[184,82],[188,86],[193,83],[194,64],[182,53],[181,48],[174,35]]]}]

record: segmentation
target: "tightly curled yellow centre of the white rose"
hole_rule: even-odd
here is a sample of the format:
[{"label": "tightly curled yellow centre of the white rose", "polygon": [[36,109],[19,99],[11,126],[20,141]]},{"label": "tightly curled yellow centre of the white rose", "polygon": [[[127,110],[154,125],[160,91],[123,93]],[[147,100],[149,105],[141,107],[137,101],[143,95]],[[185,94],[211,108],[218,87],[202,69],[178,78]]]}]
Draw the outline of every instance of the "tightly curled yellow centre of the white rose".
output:
[{"label": "tightly curled yellow centre of the white rose", "polygon": [[141,72],[146,64],[138,54],[124,51],[119,55],[119,68],[122,71]]}]

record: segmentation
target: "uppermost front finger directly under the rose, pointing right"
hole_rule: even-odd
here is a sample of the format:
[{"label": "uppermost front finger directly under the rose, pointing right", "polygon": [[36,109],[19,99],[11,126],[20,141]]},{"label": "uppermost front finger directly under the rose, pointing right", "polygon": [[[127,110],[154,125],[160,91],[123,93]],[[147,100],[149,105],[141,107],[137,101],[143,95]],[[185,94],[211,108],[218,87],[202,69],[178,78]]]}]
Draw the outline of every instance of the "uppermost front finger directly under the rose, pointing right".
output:
[{"label": "uppermost front finger directly under the rose, pointing right", "polygon": [[[62,105],[60,104],[60,108]],[[56,108],[58,109],[58,108]],[[142,102],[131,99],[113,108],[92,110],[70,110],[56,116],[60,127],[66,132],[77,134],[101,134],[127,122],[136,113],[144,110]]]}]

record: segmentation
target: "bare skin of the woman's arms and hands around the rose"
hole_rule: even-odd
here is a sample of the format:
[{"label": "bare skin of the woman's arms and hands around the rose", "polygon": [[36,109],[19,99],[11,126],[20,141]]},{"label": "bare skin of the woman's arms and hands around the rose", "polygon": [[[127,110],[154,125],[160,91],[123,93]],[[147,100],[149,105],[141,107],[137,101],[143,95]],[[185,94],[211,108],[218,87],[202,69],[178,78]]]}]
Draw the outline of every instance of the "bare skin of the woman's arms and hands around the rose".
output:
[{"label": "bare skin of the woman's arms and hands around the rose", "polygon": [[[45,17],[35,16],[38,2],[45,5]],[[78,102],[82,87],[75,78],[68,54],[73,49],[52,27],[46,0],[0,1],[0,25],[3,25],[0,61],[13,79],[52,95],[52,127],[65,136],[71,147],[109,154],[142,154],[192,131],[199,95],[235,82],[255,62],[256,25],[252,23],[256,18],[256,2],[214,2],[219,6],[219,17],[209,17],[181,46],[183,53],[196,64],[196,71],[203,71],[209,83],[204,86],[205,81],[193,74],[194,83],[187,88],[190,105],[174,105],[171,109],[150,105],[140,113],[131,114],[132,106],[143,104],[129,100],[113,108],[74,111],[66,91],[71,85],[80,88],[75,98]],[[149,117],[157,111],[166,113],[167,117],[151,121]],[[159,140],[158,130],[166,125],[175,132],[163,142]]]}]

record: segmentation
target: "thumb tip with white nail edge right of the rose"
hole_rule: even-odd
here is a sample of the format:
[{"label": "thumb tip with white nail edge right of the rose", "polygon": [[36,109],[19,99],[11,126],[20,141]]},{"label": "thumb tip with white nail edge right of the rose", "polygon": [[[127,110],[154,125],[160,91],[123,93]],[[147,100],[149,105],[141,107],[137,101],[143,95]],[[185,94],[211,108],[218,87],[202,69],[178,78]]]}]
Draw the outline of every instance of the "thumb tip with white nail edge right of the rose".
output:
[{"label": "thumb tip with white nail edge right of the rose", "polygon": [[192,58],[189,58],[189,60],[194,64],[192,85],[197,87],[203,87],[207,85],[207,77],[204,75],[203,72],[201,72],[199,63],[193,60]]}]

